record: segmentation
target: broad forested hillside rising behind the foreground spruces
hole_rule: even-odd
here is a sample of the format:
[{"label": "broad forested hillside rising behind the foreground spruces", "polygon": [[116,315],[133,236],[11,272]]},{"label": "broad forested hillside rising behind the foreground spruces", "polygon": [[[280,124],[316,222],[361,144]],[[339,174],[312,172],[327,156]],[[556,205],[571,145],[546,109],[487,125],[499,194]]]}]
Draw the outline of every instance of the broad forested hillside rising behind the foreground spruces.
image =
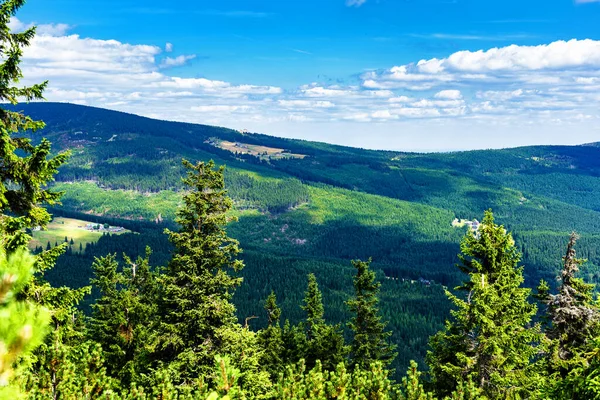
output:
[{"label": "broad forested hillside rising behind the foreground spruces", "polygon": [[462,279],[454,264],[466,228],[453,226],[455,218],[481,219],[492,208],[524,252],[529,284],[555,281],[564,244],[576,230],[580,253],[589,259],[587,278],[600,277],[598,144],[415,154],[69,104],[17,109],[46,122],[36,137],[72,151],[57,176],[65,195],[55,213],[116,220],[142,233],[103,237],[85,255],[68,256],[50,276],[57,283],[86,284],[91,258],[108,251],[140,252],[149,243],[162,260],[169,248],[161,231],[180,201],[182,158],[227,167],[239,217],[229,232],[240,240],[247,265],[235,298],[241,318],[262,315],[273,289],[283,317],[298,320],[306,274],[315,272],[328,317],[343,321],[349,261],[372,257],[384,281],[383,313],[399,344],[400,371],[410,358],[421,359],[447,315],[441,285]]}]

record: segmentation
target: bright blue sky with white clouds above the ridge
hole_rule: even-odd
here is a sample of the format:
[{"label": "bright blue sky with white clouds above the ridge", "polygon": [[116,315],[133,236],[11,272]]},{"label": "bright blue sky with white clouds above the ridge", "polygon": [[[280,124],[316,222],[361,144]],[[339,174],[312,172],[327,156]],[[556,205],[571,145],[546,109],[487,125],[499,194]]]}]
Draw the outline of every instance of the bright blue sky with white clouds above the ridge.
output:
[{"label": "bright blue sky with white clouds above the ridge", "polygon": [[28,0],[48,101],[371,149],[600,141],[600,0]]}]

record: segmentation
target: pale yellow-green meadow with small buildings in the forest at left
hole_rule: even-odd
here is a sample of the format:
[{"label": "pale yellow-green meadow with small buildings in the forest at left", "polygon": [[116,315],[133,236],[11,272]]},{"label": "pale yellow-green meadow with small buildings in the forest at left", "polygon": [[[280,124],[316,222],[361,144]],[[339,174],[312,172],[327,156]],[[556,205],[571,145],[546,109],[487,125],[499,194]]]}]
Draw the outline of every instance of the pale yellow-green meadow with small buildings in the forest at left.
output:
[{"label": "pale yellow-green meadow with small buildings in the forest at left", "polygon": [[[52,222],[48,224],[47,230],[33,232],[33,239],[29,246],[32,249],[35,249],[38,246],[42,246],[45,249],[48,242],[50,242],[54,247],[56,243],[63,243],[66,237],[69,243],[71,242],[71,239],[73,239],[73,252],[78,253],[80,244],[81,248],[85,249],[85,246],[88,243],[96,243],[103,235],[102,232],[85,229],[87,224],[91,224],[91,222],[73,218],[54,218]],[[124,229],[120,232],[110,232],[110,234],[121,235],[129,232],[131,231]]]}]

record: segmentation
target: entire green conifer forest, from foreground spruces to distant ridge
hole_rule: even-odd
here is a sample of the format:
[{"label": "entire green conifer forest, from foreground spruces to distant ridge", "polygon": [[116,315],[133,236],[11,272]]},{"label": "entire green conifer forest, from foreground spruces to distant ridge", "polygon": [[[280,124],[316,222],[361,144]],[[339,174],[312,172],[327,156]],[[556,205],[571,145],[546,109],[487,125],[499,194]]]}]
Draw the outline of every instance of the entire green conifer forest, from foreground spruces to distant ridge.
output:
[{"label": "entire green conifer forest, from foreground spruces to distant ridge", "polygon": [[[19,104],[48,85],[19,84],[23,4],[0,6],[0,399],[600,399],[597,146],[243,137],[305,156],[275,160]],[[59,216],[131,232],[31,246]]]}]

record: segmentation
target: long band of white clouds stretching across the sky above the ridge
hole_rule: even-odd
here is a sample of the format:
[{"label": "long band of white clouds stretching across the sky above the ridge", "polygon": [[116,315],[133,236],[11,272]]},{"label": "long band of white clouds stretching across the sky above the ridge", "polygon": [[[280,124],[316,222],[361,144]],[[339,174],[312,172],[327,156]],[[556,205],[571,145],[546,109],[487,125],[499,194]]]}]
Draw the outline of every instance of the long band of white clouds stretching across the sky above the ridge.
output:
[{"label": "long band of white clouds stretching across the sky above the ridge", "polygon": [[[17,19],[11,24],[30,26]],[[284,90],[178,76],[169,67],[194,56],[167,55],[173,51],[170,43],[161,48],[83,38],[60,24],[47,26],[53,28],[25,50],[23,72],[25,84],[50,80],[46,98],[51,101],[274,134],[305,123],[465,121],[474,126],[482,121],[487,129],[512,122],[593,125],[600,120],[600,41],[459,51],[367,72],[357,84],[313,82]]]}]

